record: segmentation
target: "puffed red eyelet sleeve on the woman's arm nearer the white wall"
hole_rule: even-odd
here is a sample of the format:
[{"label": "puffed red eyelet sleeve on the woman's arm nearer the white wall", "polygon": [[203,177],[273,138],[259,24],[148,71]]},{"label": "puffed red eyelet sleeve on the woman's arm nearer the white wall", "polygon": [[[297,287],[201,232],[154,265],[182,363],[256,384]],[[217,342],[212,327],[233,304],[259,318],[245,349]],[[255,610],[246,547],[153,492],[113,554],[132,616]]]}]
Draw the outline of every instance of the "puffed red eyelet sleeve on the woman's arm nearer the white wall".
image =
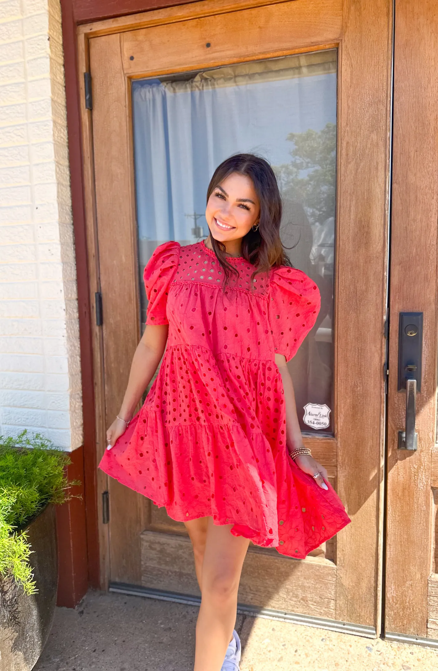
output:
[{"label": "puffed red eyelet sleeve on the woman's arm nearer the white wall", "polygon": [[166,316],[169,285],[179,262],[179,242],[173,240],[159,245],[144,268],[143,280],[148,299],[147,324],[168,324]]}]

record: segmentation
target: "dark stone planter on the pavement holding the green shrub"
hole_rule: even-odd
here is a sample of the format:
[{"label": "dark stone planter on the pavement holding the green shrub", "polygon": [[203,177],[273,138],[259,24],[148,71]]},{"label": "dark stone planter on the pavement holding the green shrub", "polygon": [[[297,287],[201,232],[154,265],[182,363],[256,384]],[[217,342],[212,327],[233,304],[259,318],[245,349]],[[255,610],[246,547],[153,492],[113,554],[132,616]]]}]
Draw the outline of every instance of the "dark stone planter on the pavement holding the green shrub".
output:
[{"label": "dark stone planter on the pavement holding the green shrub", "polygon": [[54,506],[48,505],[27,530],[38,592],[26,595],[15,580],[0,578],[0,671],[34,668],[52,627],[58,588]]}]

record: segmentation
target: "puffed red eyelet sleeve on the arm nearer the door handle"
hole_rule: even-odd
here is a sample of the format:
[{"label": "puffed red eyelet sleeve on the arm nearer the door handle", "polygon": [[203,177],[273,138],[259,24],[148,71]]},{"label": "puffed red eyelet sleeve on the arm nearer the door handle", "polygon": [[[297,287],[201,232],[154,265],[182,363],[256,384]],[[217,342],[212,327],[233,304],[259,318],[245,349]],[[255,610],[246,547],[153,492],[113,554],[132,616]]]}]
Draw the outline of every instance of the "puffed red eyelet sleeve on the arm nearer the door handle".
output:
[{"label": "puffed red eyelet sleeve on the arm nearer the door handle", "polygon": [[275,354],[292,359],[314,325],[320,310],[320,293],[302,270],[281,266],[271,274],[268,320]]}]

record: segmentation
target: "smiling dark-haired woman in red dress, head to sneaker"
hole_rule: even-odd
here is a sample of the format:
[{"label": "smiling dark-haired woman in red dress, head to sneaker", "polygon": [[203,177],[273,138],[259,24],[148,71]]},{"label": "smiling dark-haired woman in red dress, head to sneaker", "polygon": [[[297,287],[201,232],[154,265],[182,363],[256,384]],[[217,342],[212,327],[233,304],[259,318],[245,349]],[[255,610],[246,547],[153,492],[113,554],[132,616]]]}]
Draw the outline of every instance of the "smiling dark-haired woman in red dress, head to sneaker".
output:
[{"label": "smiling dark-haired woman in red dress, head to sneaker", "polygon": [[166,242],[144,270],[146,330],[99,466],[183,521],[202,592],[194,669],[238,671],[250,539],[304,558],[350,520],[302,442],[286,361],[320,295],[283,252],[269,164],[238,154],[218,166],[206,219],[207,240]]}]

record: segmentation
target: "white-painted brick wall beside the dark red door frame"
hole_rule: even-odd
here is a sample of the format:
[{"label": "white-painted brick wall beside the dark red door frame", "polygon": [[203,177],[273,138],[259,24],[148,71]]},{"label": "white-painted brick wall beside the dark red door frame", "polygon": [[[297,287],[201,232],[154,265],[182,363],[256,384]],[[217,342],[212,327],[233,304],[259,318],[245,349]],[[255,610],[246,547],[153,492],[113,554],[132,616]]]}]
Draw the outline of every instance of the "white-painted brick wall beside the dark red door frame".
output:
[{"label": "white-painted brick wall beside the dark red door frame", "polygon": [[82,442],[58,0],[0,0],[0,433]]}]

